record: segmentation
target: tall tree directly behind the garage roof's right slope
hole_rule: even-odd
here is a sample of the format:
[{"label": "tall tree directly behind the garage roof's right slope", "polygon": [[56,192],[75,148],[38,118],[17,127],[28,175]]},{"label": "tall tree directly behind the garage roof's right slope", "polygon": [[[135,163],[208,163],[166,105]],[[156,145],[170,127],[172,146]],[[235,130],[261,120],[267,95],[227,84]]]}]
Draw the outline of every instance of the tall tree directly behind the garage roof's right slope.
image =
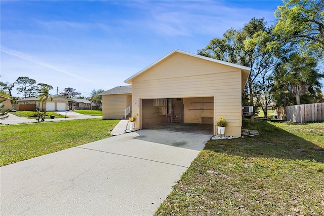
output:
[{"label": "tall tree directly behind the garage roof's right slope", "polygon": [[[275,66],[275,46],[270,46],[275,40],[271,34],[272,27],[267,27],[264,19],[253,18],[241,29],[233,28],[223,34],[223,38],[211,40],[209,45],[198,50],[199,55],[251,67],[251,73],[244,91],[249,96],[249,104],[254,103],[254,97],[263,89],[256,85],[260,77],[271,73]],[[247,101],[244,98],[242,101]]]}]

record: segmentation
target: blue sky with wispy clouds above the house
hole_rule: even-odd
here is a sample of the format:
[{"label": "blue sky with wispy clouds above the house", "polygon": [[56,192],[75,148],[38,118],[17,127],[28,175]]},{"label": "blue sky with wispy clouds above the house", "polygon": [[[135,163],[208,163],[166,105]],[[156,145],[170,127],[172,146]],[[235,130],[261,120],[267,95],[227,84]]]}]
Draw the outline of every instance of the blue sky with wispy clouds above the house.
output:
[{"label": "blue sky with wispy clouds above the house", "polygon": [[[251,18],[274,24],[281,1],[1,1],[1,81],[20,76],[93,89],[124,80],[174,49],[196,53]],[[17,94],[16,88],[13,91]]]}]

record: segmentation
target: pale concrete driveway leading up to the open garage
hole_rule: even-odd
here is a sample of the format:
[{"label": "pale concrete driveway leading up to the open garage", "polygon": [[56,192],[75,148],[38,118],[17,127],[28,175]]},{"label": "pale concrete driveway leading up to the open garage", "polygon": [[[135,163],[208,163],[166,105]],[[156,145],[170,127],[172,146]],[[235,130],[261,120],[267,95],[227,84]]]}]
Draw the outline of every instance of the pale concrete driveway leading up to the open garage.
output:
[{"label": "pale concrete driveway leading up to the open garage", "polygon": [[140,130],[3,166],[1,215],[152,215],[211,135]]}]

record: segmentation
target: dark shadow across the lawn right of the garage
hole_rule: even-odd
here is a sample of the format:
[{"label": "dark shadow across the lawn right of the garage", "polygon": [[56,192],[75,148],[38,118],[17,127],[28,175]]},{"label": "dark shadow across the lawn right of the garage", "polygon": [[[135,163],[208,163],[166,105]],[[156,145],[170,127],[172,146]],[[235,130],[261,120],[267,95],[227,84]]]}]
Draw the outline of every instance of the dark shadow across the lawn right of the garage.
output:
[{"label": "dark shadow across the lawn right of the garage", "polygon": [[315,160],[324,163],[323,148],[268,122],[262,124],[262,128],[257,128],[259,136],[210,140],[204,150],[241,157]]}]

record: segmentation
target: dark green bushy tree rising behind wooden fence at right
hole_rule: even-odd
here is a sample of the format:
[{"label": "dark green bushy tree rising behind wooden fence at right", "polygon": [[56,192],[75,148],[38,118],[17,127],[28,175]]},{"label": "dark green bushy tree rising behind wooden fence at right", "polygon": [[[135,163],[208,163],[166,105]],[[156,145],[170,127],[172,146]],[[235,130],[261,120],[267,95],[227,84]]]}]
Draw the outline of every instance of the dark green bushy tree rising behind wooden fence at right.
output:
[{"label": "dark green bushy tree rising behind wooden fence at right", "polygon": [[298,105],[300,96],[307,92],[311,95],[319,94],[321,84],[318,80],[322,77],[324,75],[319,73],[314,56],[292,53],[275,68],[274,81],[277,90],[275,95],[278,104],[282,103],[281,100],[288,98],[291,101],[291,95],[287,94],[289,92],[295,95]]}]

